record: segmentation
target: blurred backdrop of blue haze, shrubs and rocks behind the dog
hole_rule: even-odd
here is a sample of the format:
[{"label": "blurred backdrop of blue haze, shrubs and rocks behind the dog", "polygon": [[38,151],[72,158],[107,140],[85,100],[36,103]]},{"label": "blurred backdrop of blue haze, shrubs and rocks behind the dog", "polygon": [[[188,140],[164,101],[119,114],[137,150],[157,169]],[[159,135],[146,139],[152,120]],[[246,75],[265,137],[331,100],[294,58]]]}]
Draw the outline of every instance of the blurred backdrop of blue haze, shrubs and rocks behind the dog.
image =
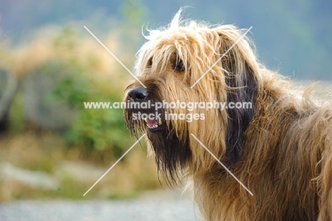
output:
[{"label": "blurred backdrop of blue haze, shrubs and rocks behind the dog", "polygon": [[[78,3],[79,2],[79,3]],[[85,197],[135,139],[119,102],[145,28],[184,18],[253,26],[267,68],[332,80],[332,1],[0,1],[0,201],[138,198],[161,188],[144,141]]]}]

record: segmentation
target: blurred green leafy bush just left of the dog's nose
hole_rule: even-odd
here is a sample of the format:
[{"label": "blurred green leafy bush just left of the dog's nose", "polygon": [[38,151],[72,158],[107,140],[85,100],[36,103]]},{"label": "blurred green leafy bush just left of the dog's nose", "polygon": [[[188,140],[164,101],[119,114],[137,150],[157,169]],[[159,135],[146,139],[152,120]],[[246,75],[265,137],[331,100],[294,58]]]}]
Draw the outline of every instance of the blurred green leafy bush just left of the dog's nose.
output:
[{"label": "blurred green leafy bush just left of the dog's nose", "polygon": [[[89,70],[72,61],[63,62],[59,72],[64,79],[53,90],[53,97],[65,100],[76,109],[72,126],[65,134],[72,145],[82,146],[86,153],[104,151],[118,157],[126,147],[126,131],[121,109],[85,109],[84,102],[118,102],[116,95],[102,90],[105,82],[89,77]],[[104,158],[104,157],[103,157]]]}]

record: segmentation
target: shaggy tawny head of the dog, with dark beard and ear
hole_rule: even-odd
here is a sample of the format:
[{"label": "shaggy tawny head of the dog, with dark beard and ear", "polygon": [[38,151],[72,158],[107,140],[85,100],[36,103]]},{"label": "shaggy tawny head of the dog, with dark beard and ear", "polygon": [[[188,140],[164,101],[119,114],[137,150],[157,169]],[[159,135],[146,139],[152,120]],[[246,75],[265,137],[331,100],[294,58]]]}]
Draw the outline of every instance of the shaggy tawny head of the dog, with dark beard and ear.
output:
[{"label": "shaggy tawny head of the dog, with dark beard and ear", "polygon": [[[189,171],[201,171],[215,163],[191,134],[233,165],[253,119],[258,91],[259,64],[248,38],[234,26],[181,21],[180,11],[170,26],[149,33],[137,54],[138,80],[125,92],[128,104],[146,107],[124,110],[128,129],[147,134],[149,149],[167,180],[175,180],[188,166]],[[206,108],[208,102],[214,108]],[[226,106],[216,108],[216,102]],[[231,102],[252,106],[227,108]]]}]

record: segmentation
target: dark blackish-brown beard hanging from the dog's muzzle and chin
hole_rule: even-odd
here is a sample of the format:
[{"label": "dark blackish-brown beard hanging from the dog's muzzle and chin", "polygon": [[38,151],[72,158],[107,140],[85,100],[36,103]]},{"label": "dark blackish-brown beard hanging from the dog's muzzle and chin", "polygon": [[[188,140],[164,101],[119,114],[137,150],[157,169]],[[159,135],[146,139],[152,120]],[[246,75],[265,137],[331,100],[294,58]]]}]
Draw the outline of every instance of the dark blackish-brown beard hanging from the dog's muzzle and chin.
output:
[{"label": "dark blackish-brown beard hanging from the dog's muzzle and chin", "polygon": [[[130,100],[128,97],[126,100]],[[161,99],[157,99],[161,100]],[[151,104],[157,102],[155,98],[149,98]],[[154,106],[154,105],[153,105]],[[133,114],[160,114],[161,119],[133,119]],[[138,137],[138,133],[146,134],[150,148],[155,153],[155,162],[160,175],[172,185],[177,183],[185,172],[192,151],[189,148],[189,137],[179,139],[172,122],[165,120],[165,110],[158,109],[125,109],[124,117],[128,129],[133,136]],[[155,124],[155,128],[152,125]]]}]

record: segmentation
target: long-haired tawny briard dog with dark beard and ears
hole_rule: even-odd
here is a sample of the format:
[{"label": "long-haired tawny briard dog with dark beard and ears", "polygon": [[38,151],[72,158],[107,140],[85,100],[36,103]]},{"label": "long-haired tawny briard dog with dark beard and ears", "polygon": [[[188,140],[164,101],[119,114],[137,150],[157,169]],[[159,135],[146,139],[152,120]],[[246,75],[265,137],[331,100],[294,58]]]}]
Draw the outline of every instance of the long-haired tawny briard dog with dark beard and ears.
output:
[{"label": "long-haired tawny briard dog with dark beard and ears", "polygon": [[234,26],[179,11],[145,38],[126,124],[205,220],[332,220],[331,102],[267,70]]}]

